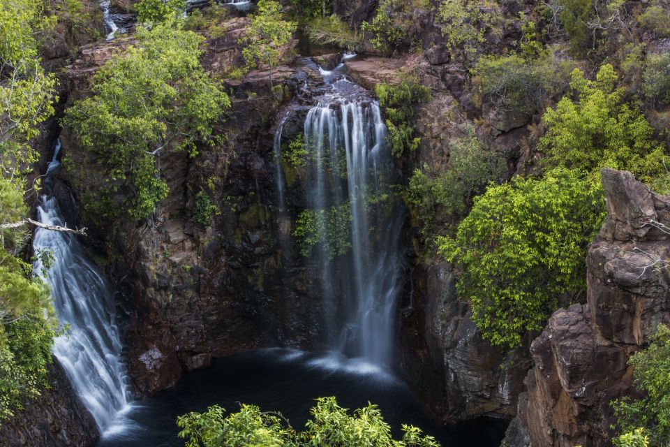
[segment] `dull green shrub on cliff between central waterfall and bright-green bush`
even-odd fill
[[[468,136],[450,146],[447,170],[431,173],[429,166],[424,166],[424,170],[414,171],[405,198],[424,223],[424,230],[429,230],[437,213],[459,219],[472,198],[501,177],[504,161],[499,154],[486,151],[469,129]]]

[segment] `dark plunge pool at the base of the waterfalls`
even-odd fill
[[[237,411],[239,403],[279,411],[299,430],[314,399],[331,395],[351,410],[368,402],[378,404],[396,437],[401,424],[408,423],[445,447],[494,447],[505,431],[503,421],[490,419],[440,427],[422,413],[401,381],[364,360],[263,349],[218,358],[211,367],[186,374],[174,388],[136,402],[125,416],[126,429],[103,437],[98,447],[184,446],[177,437],[177,416],[206,411],[214,404],[230,412]]]

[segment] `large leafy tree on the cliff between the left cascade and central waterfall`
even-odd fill
[[[110,203],[120,192],[124,212],[144,219],[168,195],[156,157],[167,151],[195,156],[197,142],[214,145],[213,125],[230,100],[200,65],[203,38],[181,22],[140,27],[136,37],[137,46],[96,73],[94,96],[68,109],[64,124],[105,168],[107,185],[96,191],[97,200]]]

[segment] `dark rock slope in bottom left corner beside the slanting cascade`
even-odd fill
[[[0,447],[89,447],[98,437],[98,425],[70,385],[54,358],[49,367],[50,388],[25,403],[0,425]]]

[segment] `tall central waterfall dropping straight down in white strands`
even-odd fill
[[[346,78],[332,82],[332,94],[309,110],[304,123],[308,203],[317,220],[337,215],[348,226],[346,254],[333,259],[319,247],[317,255],[326,307],[339,308],[344,321],[330,330],[334,347],[378,365],[392,364],[402,225],[389,194],[393,162],[386,135],[378,103]]]

